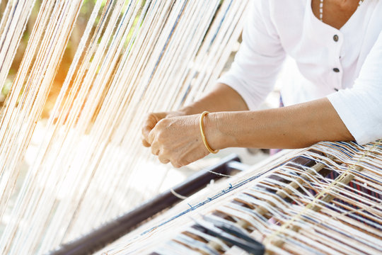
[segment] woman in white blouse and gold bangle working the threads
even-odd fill
[[[254,0],[230,71],[192,105],[149,114],[142,142],[180,167],[226,147],[381,138],[381,30],[378,0]],[[256,111],[286,55],[298,71],[283,85],[286,107]]]

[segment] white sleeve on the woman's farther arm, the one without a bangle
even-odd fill
[[[255,110],[272,91],[284,59],[268,1],[251,1],[240,50],[218,82],[235,89],[248,108]]]

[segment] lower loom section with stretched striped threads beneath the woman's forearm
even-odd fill
[[[381,254],[381,145],[320,142],[284,153],[195,194],[104,254]]]

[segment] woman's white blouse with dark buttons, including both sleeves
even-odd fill
[[[284,105],[327,96],[357,142],[372,142],[382,138],[381,30],[379,0],[364,0],[340,30],[314,16],[311,0],[253,0],[241,48],[218,82],[255,110],[289,55]]]

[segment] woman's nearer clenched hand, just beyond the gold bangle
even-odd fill
[[[200,115],[163,118],[151,130],[148,142],[151,152],[163,164],[185,166],[209,154],[199,130]]]

